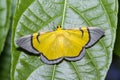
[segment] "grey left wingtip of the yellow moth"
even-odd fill
[[[27,35],[27,36],[21,37],[20,39],[18,39],[16,41],[16,44],[19,47],[21,47],[31,53],[39,54],[39,52],[37,50],[35,50],[32,46],[32,35]]]

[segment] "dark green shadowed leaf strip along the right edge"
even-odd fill
[[[120,1],[118,1],[120,4]],[[120,11],[120,8],[119,8]],[[114,46],[114,53],[120,57],[120,12],[118,13],[118,28],[117,28],[117,34],[116,34],[116,41]]]

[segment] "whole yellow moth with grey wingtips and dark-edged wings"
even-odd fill
[[[55,31],[21,37],[17,45],[33,54],[40,54],[46,64],[56,64],[63,59],[80,60],[85,55],[85,48],[91,47],[103,35],[104,31],[98,27],[62,29],[57,26]]]

